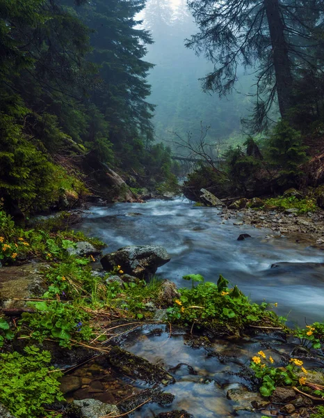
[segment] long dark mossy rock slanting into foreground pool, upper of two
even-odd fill
[[[113,347],[107,357],[115,369],[122,371],[131,378],[149,383],[162,383],[163,385],[175,382],[175,379],[162,367],[128,353],[118,346]]]

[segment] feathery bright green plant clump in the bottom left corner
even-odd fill
[[[63,374],[50,366],[49,351],[34,346],[24,351],[0,355],[0,402],[17,418],[53,417],[45,405],[63,401],[58,382]]]

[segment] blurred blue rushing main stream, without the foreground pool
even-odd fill
[[[181,279],[184,274],[200,273],[217,281],[222,273],[255,302],[278,302],[278,314],[289,314],[293,322],[323,320],[324,268],[298,265],[322,263],[323,251],[285,238],[266,238],[272,231],[233,223],[234,219],[223,221],[216,208],[176,199],[91,208],[81,229],[104,240],[106,251],[163,245],[172,259],[158,270],[159,275],[178,286],[188,286]],[[252,239],[237,241],[241,233]],[[270,268],[278,262],[297,264]]]

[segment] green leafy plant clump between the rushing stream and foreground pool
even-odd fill
[[[213,320],[233,330],[241,330],[256,322],[282,325],[284,318],[268,311],[266,302],[252,303],[237,286],[229,288],[229,281],[222,275],[217,284],[204,282],[200,274],[189,274],[184,279],[192,281],[192,288],[180,289],[181,297],[168,309],[170,320],[185,325],[194,322],[198,326]]]

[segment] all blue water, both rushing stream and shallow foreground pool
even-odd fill
[[[81,229],[106,242],[109,252],[126,245],[162,245],[171,261],[158,270],[159,276],[178,286],[188,286],[181,279],[184,274],[200,273],[208,281],[217,281],[221,273],[253,301],[277,302],[277,313],[289,314],[291,325],[323,320],[324,268],[309,264],[323,263],[323,252],[286,238],[275,238],[270,230],[234,225],[237,222],[223,220],[216,208],[195,207],[186,199],[175,199],[93,207]],[[252,238],[238,241],[241,233]],[[271,268],[280,262],[286,264]],[[289,344],[273,344],[277,344],[278,350],[291,350]],[[177,380],[166,389],[176,396],[172,407],[145,405],[135,412],[135,417],[152,418],[159,412],[176,409],[187,410],[195,418],[250,416],[248,412],[234,412],[226,392],[229,385],[242,382],[235,375],[240,366],[248,365],[261,348],[266,350],[264,341],[213,341],[214,350],[231,357],[224,364],[209,356],[204,348],[194,350],[188,346],[183,335],[170,338],[164,330],[156,335],[149,327],[132,334],[125,348],[161,364]],[[276,357],[274,352],[271,355]],[[177,368],[179,364],[184,365]],[[128,383],[124,380],[123,385]],[[260,412],[252,416],[261,415]]]

